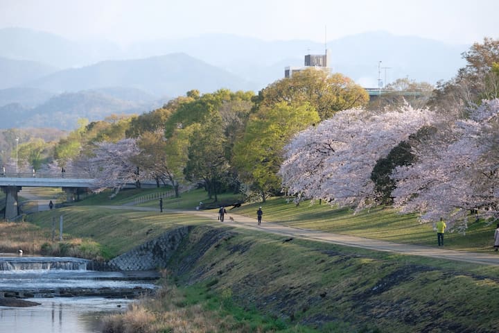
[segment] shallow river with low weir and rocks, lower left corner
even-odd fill
[[[137,295],[156,288],[152,272],[87,266],[87,260],[71,257],[0,257],[0,296],[41,303],[0,306],[0,332],[100,332],[100,318],[125,311]]]

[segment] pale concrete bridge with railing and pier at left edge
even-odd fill
[[[0,177],[0,188],[6,194],[6,209],[3,218],[10,220],[19,215],[17,194],[22,187],[61,187],[66,193],[67,202],[71,203],[78,195],[78,189],[95,187],[94,183],[94,179],[78,178],[76,175],[72,175],[71,178],[52,175],[35,175],[33,177],[33,175],[20,173],[5,175]]]

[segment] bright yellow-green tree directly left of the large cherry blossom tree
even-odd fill
[[[261,106],[252,114],[244,136],[234,146],[233,163],[240,178],[261,200],[281,191],[277,171],[283,162],[283,147],[293,135],[320,120],[310,103],[290,105],[286,102],[272,108]]]

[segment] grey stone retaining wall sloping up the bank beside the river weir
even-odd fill
[[[141,244],[108,262],[121,271],[150,271],[165,267],[192,227],[165,232],[160,237]]]

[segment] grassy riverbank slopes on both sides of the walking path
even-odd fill
[[[94,201],[86,203],[124,204],[130,196],[143,194],[123,191],[112,200],[91,196]],[[193,191],[181,199],[164,200],[164,208],[193,209],[199,201],[208,202],[204,192]],[[94,241],[104,257],[178,225],[196,226],[164,271],[164,289],[127,315],[110,319],[107,332],[125,332],[123,327],[134,332],[137,325],[141,332],[499,330],[499,313],[493,306],[499,298],[499,268],[493,266],[285,241],[191,214],[112,210],[86,203],[40,212],[28,220],[39,230],[50,230],[53,216],[62,215],[64,237]],[[142,206],[157,208],[157,200]],[[258,206],[243,205],[229,210],[229,215],[255,216]],[[352,215],[318,203],[296,207],[283,198],[262,206],[264,223],[435,246],[430,225],[393,210]],[[470,227],[466,236],[447,234],[446,247],[490,251],[491,226],[479,222]]]

